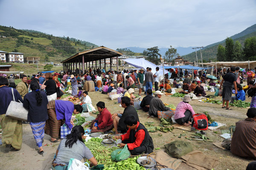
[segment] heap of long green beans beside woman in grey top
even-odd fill
[[[105,147],[97,141],[84,142],[85,146],[90,149],[98,164],[104,164],[104,167],[112,166],[114,163],[111,160],[111,153],[117,149],[117,147]],[[87,161],[90,162],[90,161]]]

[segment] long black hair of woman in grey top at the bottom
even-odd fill
[[[84,135],[84,127],[81,125],[76,125],[72,128],[71,133],[66,136],[65,147],[72,148],[73,144],[78,140],[83,142],[82,135]]]

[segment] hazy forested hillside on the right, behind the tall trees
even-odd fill
[[[239,34],[235,34],[235,35],[231,36],[230,38],[233,39],[234,42],[239,41],[241,43],[241,45],[244,47],[244,40],[249,37],[256,37],[256,24],[253,26],[250,26],[249,28],[245,29],[244,31],[240,32]],[[208,61],[208,60],[215,61],[219,44],[225,46],[225,40],[223,40],[221,42],[213,43],[211,45],[207,45],[206,47],[202,48],[201,51],[202,51],[203,59],[205,59],[206,61]],[[200,54],[200,51],[198,51],[198,49],[197,49],[197,55],[198,55],[198,59],[200,58],[200,60],[201,60],[201,54]],[[194,62],[196,60],[195,52],[184,55],[182,57],[185,57],[186,60],[189,60],[192,62]]]

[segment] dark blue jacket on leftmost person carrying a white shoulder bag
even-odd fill
[[[13,101],[12,88],[9,88],[6,85],[2,86],[0,87],[0,94],[0,114],[5,114],[10,102]],[[18,102],[18,100],[23,102],[23,99],[15,88],[13,89],[13,94],[16,102]]]

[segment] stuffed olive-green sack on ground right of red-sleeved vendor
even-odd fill
[[[184,141],[174,141],[169,144],[165,144],[166,153],[173,158],[180,158],[193,151],[192,144]]]

